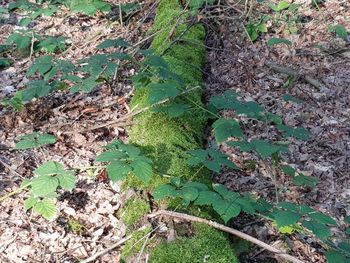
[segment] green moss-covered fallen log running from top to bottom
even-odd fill
[[[162,54],[170,69],[180,75],[187,87],[202,85],[201,68],[205,62],[203,45],[205,29],[201,24],[188,24],[189,15],[185,14],[178,0],[162,0],[157,8],[153,30],[162,29],[153,40],[151,48]],[[181,41],[174,39],[181,35]],[[211,184],[209,171],[190,167],[186,164],[187,151],[203,147],[204,131],[207,122],[206,113],[200,109],[202,89],[177,98],[179,102],[191,101],[196,105],[185,115],[169,118],[165,113],[144,112],[134,118],[134,125],[129,132],[129,142],[141,147],[153,160],[155,174],[151,182],[145,184],[135,177],[129,177],[124,188],[152,191],[159,184],[167,182],[163,175],[177,176],[184,180],[193,180]],[[133,107],[148,105],[147,88],[137,89],[131,101]],[[199,107],[198,107],[199,106]],[[177,206],[166,204],[169,208]],[[207,217],[211,211],[192,208],[189,213]],[[194,224],[194,235],[179,237],[173,242],[152,242],[147,251],[150,262],[236,262],[234,250],[228,236],[207,225]],[[126,247],[131,247],[131,241]],[[135,242],[135,240],[134,240]],[[137,249],[123,254],[124,260],[137,254]]]

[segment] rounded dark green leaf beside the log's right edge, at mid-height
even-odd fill
[[[243,137],[243,131],[236,120],[218,119],[213,123],[215,139],[224,142],[229,137]]]

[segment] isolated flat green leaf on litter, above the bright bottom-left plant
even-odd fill
[[[39,148],[41,146],[53,144],[55,142],[56,137],[53,135],[33,132],[31,134],[21,136],[20,141],[16,143],[15,149],[25,150],[31,148]]]

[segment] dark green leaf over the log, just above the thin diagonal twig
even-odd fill
[[[178,84],[175,82],[152,83],[148,85],[148,87],[150,89],[148,95],[148,101],[150,104],[158,103],[169,98],[175,98],[180,94]]]

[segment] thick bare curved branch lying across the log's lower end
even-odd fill
[[[197,222],[197,223],[204,223],[204,224],[207,224],[211,227],[214,227],[218,230],[221,230],[221,231],[224,231],[226,233],[230,233],[232,235],[235,235],[237,237],[240,237],[244,240],[247,240],[249,242],[252,242],[270,252],[273,252],[275,254],[278,254],[278,256],[286,259],[286,260],[289,260],[290,262],[293,262],[293,263],[304,263],[303,261],[287,254],[287,253],[284,253],[283,251],[273,247],[273,246],[270,246],[269,244],[266,244],[265,242],[263,241],[260,241],[259,239],[256,239],[255,237],[252,237],[250,235],[247,235],[241,231],[238,231],[236,229],[233,229],[233,228],[230,228],[230,227],[227,227],[227,226],[224,226],[222,224],[219,224],[219,223],[216,223],[214,221],[210,221],[210,220],[207,220],[207,219],[204,219],[204,218],[200,218],[200,217],[196,217],[196,216],[191,216],[191,215],[187,215],[187,214],[183,214],[183,213],[177,213],[177,212],[173,212],[173,211],[167,211],[167,210],[159,210],[153,214],[149,214],[148,217],[150,218],[153,218],[153,217],[159,217],[159,216],[170,216],[170,217],[175,217],[175,218],[179,218],[179,219],[183,219],[183,220],[186,220],[186,221],[191,221],[191,222]]]

